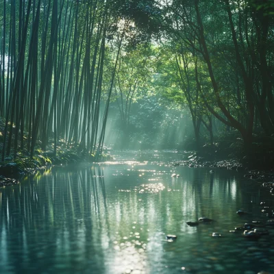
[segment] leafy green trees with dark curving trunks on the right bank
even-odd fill
[[[236,129],[247,149],[253,133],[273,136],[273,1],[159,3],[168,40],[163,82],[177,88],[166,93],[188,105],[197,142],[201,125],[213,142],[212,118]]]

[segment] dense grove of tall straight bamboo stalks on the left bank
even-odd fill
[[[115,20],[110,1],[1,2],[3,159],[24,147],[32,157],[38,140],[101,153],[123,41],[123,26],[108,39]]]

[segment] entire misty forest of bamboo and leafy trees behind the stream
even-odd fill
[[[273,14],[271,0],[1,1],[2,160],[61,141],[97,156],[273,142]]]

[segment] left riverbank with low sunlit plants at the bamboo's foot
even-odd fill
[[[2,158],[4,131],[5,119],[0,117],[0,159]],[[13,135],[12,144],[14,138],[15,136]],[[25,134],[24,140],[27,140]],[[12,147],[9,155],[5,155],[4,160],[0,162],[0,187],[18,184],[24,174],[33,173],[39,169],[45,169],[50,166],[111,159],[107,149],[105,149],[100,158],[97,159],[95,155],[88,153],[85,149],[79,149],[79,145],[68,145],[64,140],[58,140],[55,153],[53,140],[47,145],[47,151],[41,149],[41,142],[38,140],[34,156],[30,158],[26,143],[27,141],[24,144],[24,148],[16,153],[16,157],[14,157],[14,149]]]

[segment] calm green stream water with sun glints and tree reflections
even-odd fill
[[[0,273],[274,272],[274,229],[256,241],[229,233],[266,219],[258,204],[269,193],[236,171],[169,165],[182,158],[123,153],[1,189]],[[201,216],[216,221],[186,225]]]

